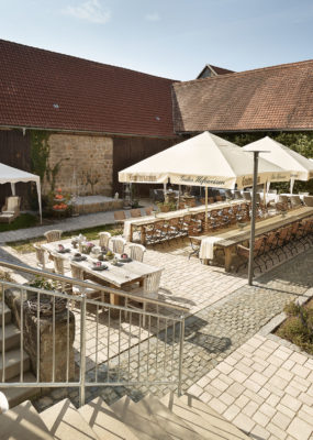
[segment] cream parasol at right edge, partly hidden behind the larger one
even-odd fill
[[[245,146],[247,151],[260,151],[260,157],[266,158],[283,169],[291,172],[290,193],[294,180],[310,180],[313,178],[313,162],[288,146],[266,136]],[[262,153],[267,152],[267,153]]]

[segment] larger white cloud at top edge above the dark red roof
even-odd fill
[[[87,0],[78,7],[67,7],[62,11],[66,15],[71,15],[79,20],[86,20],[91,23],[108,23],[111,19],[111,12],[104,10],[99,0]]]

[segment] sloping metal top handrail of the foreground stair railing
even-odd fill
[[[131,294],[131,293],[122,290],[122,289],[115,289],[113,287],[102,286],[101,284],[97,284],[97,283],[90,283],[90,282],[87,283],[87,282],[83,282],[81,279],[70,278],[68,276],[55,274],[53,272],[37,270],[37,268],[34,268],[34,267],[29,266],[26,264],[14,264],[14,263],[7,262],[5,260],[0,260],[0,266],[7,267],[7,268],[11,268],[11,270],[14,270],[14,271],[25,272],[25,273],[32,274],[32,275],[44,276],[46,278],[55,279],[55,280],[58,280],[60,283],[68,283],[68,284],[80,286],[80,287],[85,287],[85,288],[94,288],[94,289],[100,290],[100,292],[105,292],[105,293],[113,294],[113,295],[120,295],[120,296],[123,296],[125,298],[132,298],[132,299],[135,299],[135,300],[138,300],[138,301],[143,300],[142,296],[134,295],[134,294]],[[154,304],[156,306],[163,306],[163,307],[167,307],[169,309],[179,310],[179,311],[186,312],[186,314],[188,314],[190,311],[186,307],[178,306],[178,305],[176,306],[176,305],[170,304],[170,302],[159,301],[158,299],[145,298],[145,301],[147,301],[149,304]]]

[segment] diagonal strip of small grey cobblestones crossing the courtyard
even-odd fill
[[[313,285],[311,271],[308,273],[312,264],[313,250],[309,250],[305,254],[299,255],[275,268],[272,273],[261,276],[256,286],[242,286],[214,305],[208,306],[194,316],[187,318],[182,391],[191,389],[198,393],[204,402],[206,396],[208,398],[211,396],[210,392],[216,394],[213,387],[210,387],[205,375],[253,338],[264,324],[283,309],[287,302],[305,294]],[[150,338],[149,342],[142,343],[141,355],[138,355],[138,348],[134,346],[124,352],[120,360],[118,356],[111,360],[109,378],[116,378],[116,365],[119,362],[121,365],[120,377],[122,378],[130,377],[133,381],[138,377],[147,378],[147,362],[152,363],[150,378],[155,380],[160,376],[170,378],[172,372],[167,356],[174,351],[177,360],[178,343],[177,338],[175,338],[175,343],[172,344],[169,334],[169,343],[166,351],[164,339],[165,332],[160,333],[158,338]],[[148,356],[148,352],[155,354]],[[130,376],[127,370],[128,360],[131,365]],[[156,362],[157,367],[154,362]],[[101,380],[108,378],[105,363],[101,366],[99,375]],[[94,372],[91,370],[88,373],[88,378],[92,381],[93,377]],[[221,380],[223,380],[221,381],[224,384],[223,386],[227,387],[234,382],[234,380],[227,377],[225,372]],[[194,387],[195,383],[201,388],[201,392]],[[149,391],[156,395],[163,395],[171,388],[172,386],[155,386]],[[137,388],[132,387],[132,389],[126,389],[122,386],[103,388],[94,386],[88,388],[87,398],[92,399],[101,395],[111,404],[124,394],[131,395],[134,399],[139,399],[146,392],[146,385]],[[77,391],[70,389],[68,393],[72,402],[78,404]],[[52,405],[55,400],[63,398],[65,394],[66,391],[55,391],[51,396],[38,399],[35,405],[38,410],[42,410],[47,405]],[[213,396],[215,395],[213,394]]]

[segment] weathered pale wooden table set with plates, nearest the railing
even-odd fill
[[[65,249],[69,249],[70,252],[59,253],[58,252],[58,244],[63,244]],[[74,249],[71,245],[71,240],[63,240],[59,242],[52,242],[42,244],[42,248],[47,251],[49,254],[55,253],[59,255],[65,261],[70,261],[77,252],[77,249]],[[126,285],[134,284],[134,283],[143,283],[144,278],[154,273],[159,271],[159,267],[150,266],[146,263],[141,263],[137,261],[132,261],[130,263],[121,263],[120,266],[114,266],[110,263],[110,261],[103,262],[108,266],[104,271],[94,271],[92,268],[92,263],[98,262],[96,255],[89,254],[87,255],[87,260],[82,262],[75,262],[75,264],[79,265],[83,268],[85,272],[92,274],[93,277],[97,277],[99,280],[104,280],[105,283],[110,284],[112,287],[123,288]],[[111,304],[118,305],[119,296],[112,295],[110,300]]]

